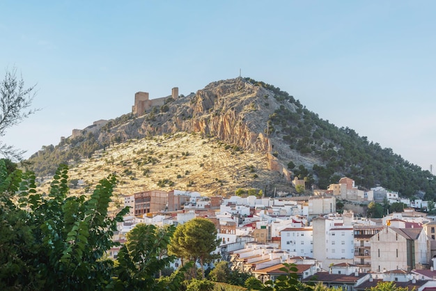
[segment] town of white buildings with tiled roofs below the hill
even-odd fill
[[[301,183],[293,181],[294,186]],[[353,210],[336,211],[336,200],[357,205],[387,200],[406,207],[371,219]],[[380,281],[419,291],[436,288],[436,217],[417,211],[427,209],[428,202],[400,198],[382,187],[364,192],[350,178],[305,197],[223,198],[149,190],[126,196],[125,206],[130,213],[118,223],[116,242],[123,244],[138,223],[177,226],[203,217],[217,228],[220,260],[264,283],[283,274],[283,263],[292,263],[299,280],[343,290],[366,290]],[[112,248],[110,257],[116,258],[119,249]],[[171,267],[179,265],[176,261]]]

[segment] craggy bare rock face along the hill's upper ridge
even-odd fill
[[[281,173],[286,180],[290,180],[291,173],[284,164],[295,157],[302,159],[267,129],[269,116],[276,109],[285,106],[295,111],[295,104],[277,101],[274,93],[246,79],[215,81],[195,94],[179,97],[167,105],[169,110],[150,110],[110,132],[100,133],[100,139],[120,136],[127,140],[177,132],[215,136],[243,150],[263,152],[270,170]],[[299,162],[304,164],[305,161]],[[306,162],[313,164],[313,161]]]

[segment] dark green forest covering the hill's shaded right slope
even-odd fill
[[[379,143],[368,141],[348,127],[338,128],[328,120],[322,120],[318,114],[302,106],[293,96],[270,84],[247,78],[252,84],[263,86],[272,91],[279,101],[291,102],[294,110],[281,105],[269,118],[275,134],[286,141],[290,149],[302,155],[313,155],[322,160],[314,165],[308,175],[316,178],[321,189],[338,182],[338,176],[347,176],[357,185],[367,189],[380,184],[386,189],[398,191],[403,196],[413,196],[417,191],[433,198],[436,193],[436,181],[429,171],[410,164],[391,148],[382,148]],[[294,163],[289,163],[292,169]]]

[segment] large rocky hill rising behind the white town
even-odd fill
[[[181,136],[184,136],[183,141],[179,140]],[[174,139],[174,144],[170,143],[171,139]],[[137,146],[136,155],[137,151],[141,154],[136,157],[133,154],[130,157],[114,154],[108,158],[109,154],[104,153],[116,152],[120,148],[127,150],[141,141],[154,143]],[[164,142],[166,150],[162,152]],[[116,144],[118,147],[114,148]],[[183,152],[189,155],[182,155]],[[224,153],[229,153],[229,157]],[[171,163],[176,164],[172,162],[176,155],[185,157],[185,162],[188,162],[182,168],[192,168],[185,173],[195,174],[187,178],[189,175],[182,175],[183,171],[171,168]],[[338,128],[322,120],[279,88],[249,78],[212,82],[196,93],[180,95],[176,99],[170,97],[162,106],[152,107],[143,114],[127,113],[110,120],[94,132],[84,129],[80,136],[65,139],[57,146],[45,147],[32,155],[28,162],[38,175],[47,175],[53,173],[61,162],[80,168],[82,163],[91,163],[95,159],[106,159],[109,164],[111,161],[113,164],[125,161],[131,171],[134,163],[141,164],[138,171],[145,171],[144,167],[148,165],[148,176],[146,173],[140,178],[136,173],[132,178],[143,186],[132,186],[130,192],[141,187],[170,187],[162,182],[157,185],[159,180],[165,179],[174,183],[173,188],[183,189],[191,184],[196,185],[196,191],[204,193],[231,194],[238,187],[263,191],[266,187],[267,192],[273,188],[293,191],[290,179],[295,176],[305,178],[309,187],[313,184],[313,187],[322,189],[348,176],[361,187],[379,184],[391,191],[399,191],[403,196],[425,193],[426,198],[433,198],[436,192],[436,181],[430,172],[410,164],[391,149],[381,148],[378,143],[359,136],[353,129]],[[223,164],[215,169],[214,161]],[[103,166],[101,161],[100,164],[100,169],[92,168],[92,172],[91,168],[81,171],[81,178],[90,180],[86,177],[97,177],[101,171],[124,173],[127,169],[113,170]],[[155,169],[157,164],[167,166],[168,170]],[[198,167],[199,164],[203,166]],[[255,171],[249,172],[253,177],[242,168]],[[160,174],[153,176],[152,172]],[[257,178],[254,178],[254,173]],[[186,179],[173,178],[173,175]]]

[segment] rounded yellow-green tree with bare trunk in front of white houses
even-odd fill
[[[217,238],[217,228],[212,221],[203,218],[191,219],[177,226],[171,238],[169,253],[178,258],[199,262],[204,278],[204,264],[214,258],[212,251],[217,249],[220,242]]]

